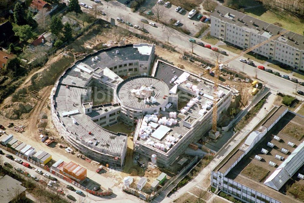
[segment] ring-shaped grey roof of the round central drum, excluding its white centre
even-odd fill
[[[143,85],[152,87],[153,93],[151,96],[154,96],[156,99],[155,103],[150,102],[146,104],[144,99],[139,99],[131,93],[133,89],[140,89]],[[117,87],[116,94],[120,100],[119,103],[122,105],[128,108],[142,110],[157,107],[167,102],[167,99],[163,97],[165,95],[169,96],[169,87],[163,81],[152,76],[135,76],[120,83]]]

